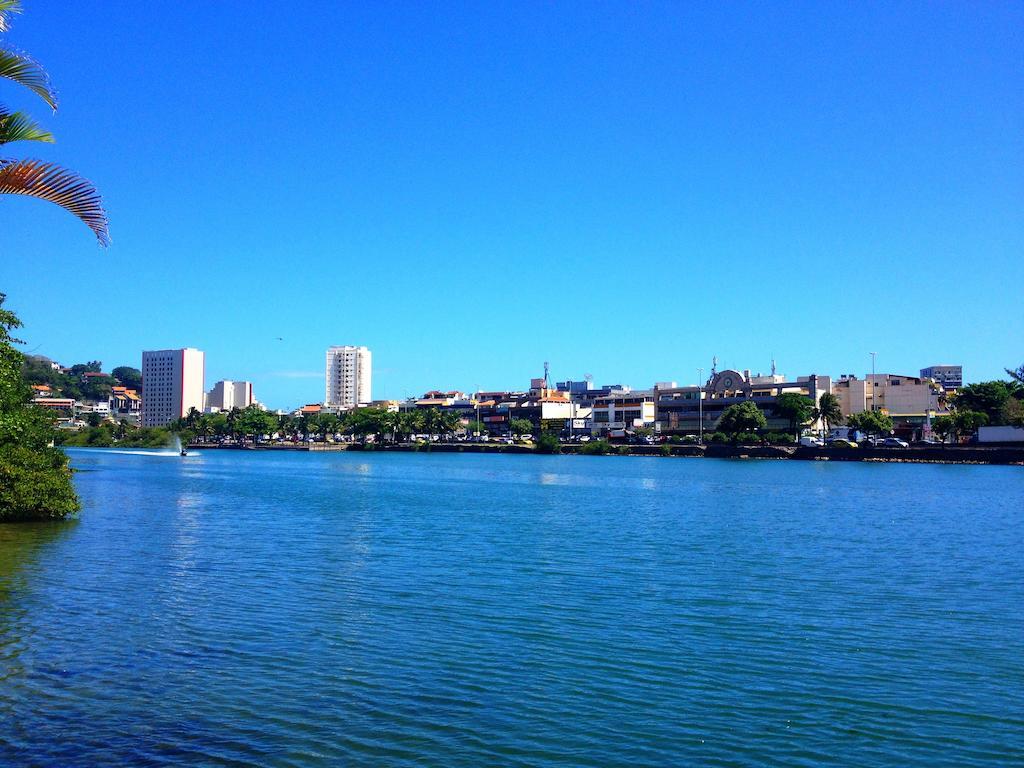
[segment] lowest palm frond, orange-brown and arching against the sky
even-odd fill
[[[27,195],[73,213],[92,229],[99,245],[111,242],[106,212],[91,182],[54,163],[39,160],[0,161],[0,195]]]

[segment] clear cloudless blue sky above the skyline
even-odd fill
[[[29,349],[324,396],[1024,362],[1021,3],[26,0],[114,243],[0,199]],[[283,341],[276,341],[282,337]]]

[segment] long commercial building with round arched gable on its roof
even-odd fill
[[[750,371],[713,371],[703,386],[655,387],[655,419],[662,432],[697,434],[702,417],[703,431],[714,432],[729,406],[753,402],[767,419],[769,430],[784,432],[788,431],[790,422],[775,413],[780,394],[796,392],[817,406],[821,395],[830,391],[831,379],[827,376],[811,374],[786,381],[778,374],[755,376]],[[810,426],[816,428],[817,424]]]

